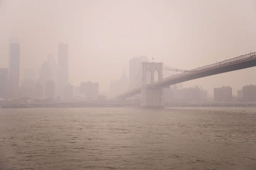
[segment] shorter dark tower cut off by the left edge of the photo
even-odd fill
[[[0,68],[0,98],[7,97],[8,69]]]

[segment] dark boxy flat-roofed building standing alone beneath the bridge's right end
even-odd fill
[[[213,89],[214,102],[232,102],[232,88],[229,86],[222,86]]]

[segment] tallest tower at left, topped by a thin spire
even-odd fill
[[[19,94],[19,60],[20,45],[16,41],[10,43],[10,60],[9,60],[9,84],[8,92],[10,98],[17,98]]]

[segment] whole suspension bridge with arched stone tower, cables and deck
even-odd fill
[[[256,52],[240,55],[192,70],[177,69],[164,65],[163,63],[155,62],[143,62],[141,65],[142,67],[137,77],[140,85],[118,95],[115,99],[124,100],[141,93],[141,107],[162,107],[164,87],[197,78],[254,67],[256,66]],[[180,73],[163,78],[163,69],[179,71]]]

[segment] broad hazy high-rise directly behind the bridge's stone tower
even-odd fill
[[[141,86],[141,63],[149,62],[146,56],[134,57],[129,61],[129,86],[135,88]]]

